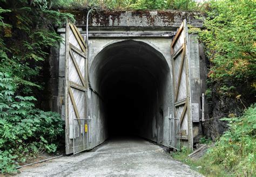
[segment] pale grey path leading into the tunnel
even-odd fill
[[[113,139],[95,152],[20,169],[19,176],[200,176],[143,139]]]

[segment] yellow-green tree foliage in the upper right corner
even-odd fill
[[[221,96],[235,93],[236,88],[255,93],[255,1],[212,1],[200,39],[211,61],[208,77],[218,83]]]

